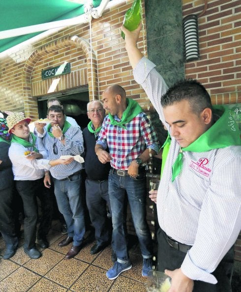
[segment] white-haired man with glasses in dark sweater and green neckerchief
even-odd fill
[[[103,250],[111,240],[111,226],[106,209],[108,205],[111,212],[108,194],[108,175],[111,166],[110,163],[102,164],[94,151],[105,116],[103,104],[98,100],[90,101],[87,105],[87,115],[90,123],[83,130],[87,174],[85,184],[86,202],[95,229],[96,244],[90,249],[90,254],[94,255]]]

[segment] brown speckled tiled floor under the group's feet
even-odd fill
[[[111,281],[105,275],[112,266],[110,246],[92,256],[93,242],[88,243],[87,237],[80,253],[65,260],[71,244],[59,247],[58,242],[64,237],[59,222],[54,221],[48,234],[50,246],[42,250],[42,257],[37,260],[30,260],[24,253],[23,239],[16,254],[3,260],[5,245],[0,237],[0,292],[146,292],[142,257],[136,244],[130,249],[132,268]]]

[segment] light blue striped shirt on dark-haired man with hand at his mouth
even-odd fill
[[[82,131],[77,127],[71,126],[64,134],[64,145],[59,139],[51,137],[48,133],[43,137],[43,144],[48,151],[48,159],[59,159],[61,155],[79,155],[84,151],[84,142]],[[54,154],[54,150],[57,154]],[[63,179],[69,175],[83,169],[82,164],[74,161],[67,165],[57,165],[50,169],[50,173],[54,178]]]

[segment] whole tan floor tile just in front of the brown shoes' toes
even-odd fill
[[[88,263],[76,259],[64,259],[49,271],[45,277],[69,288],[88,266]]]

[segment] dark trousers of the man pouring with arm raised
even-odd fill
[[[175,270],[181,267],[186,253],[181,252],[169,245],[165,233],[159,229],[158,241],[158,267],[157,270],[164,272],[165,269]],[[205,255],[204,255],[205,257]],[[203,281],[194,281],[193,292],[232,292],[231,279],[234,265],[234,246],[224,256],[212,275],[217,279],[213,285]]]

